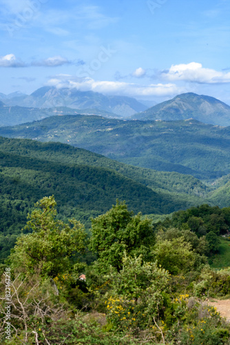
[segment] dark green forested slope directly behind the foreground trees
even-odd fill
[[[125,199],[134,212],[167,214],[202,204],[210,188],[191,176],[127,166],[60,143],[0,138],[1,257],[34,202],[54,195],[60,217],[90,217]],[[6,241],[7,239],[7,241]]]

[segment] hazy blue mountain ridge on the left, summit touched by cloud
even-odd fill
[[[11,95],[0,94],[0,100],[7,106],[28,108],[54,108],[65,106],[85,109],[96,108],[109,113],[129,117],[136,112],[147,109],[147,106],[136,99],[125,96],[105,96],[99,92],[79,91],[75,88],[54,88],[44,86],[32,92],[31,95],[16,92]]]

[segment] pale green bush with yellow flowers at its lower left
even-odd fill
[[[169,274],[155,262],[143,262],[139,257],[123,257],[123,268],[109,279],[112,290],[107,293],[107,311],[116,326],[145,328],[154,324],[169,292]]]

